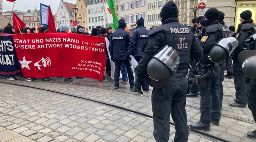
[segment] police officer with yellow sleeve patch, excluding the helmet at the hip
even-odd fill
[[[225,26],[219,23],[219,11],[216,8],[208,9],[205,14],[206,29],[204,36],[201,39],[204,54],[207,54],[212,44],[226,37]],[[203,55],[204,56],[204,55]],[[210,130],[210,123],[219,125],[220,121],[220,97],[218,93],[220,64],[205,64],[201,65],[200,74],[205,79],[205,84],[200,83],[200,121],[190,123],[192,129]],[[209,76],[207,78],[207,75]],[[204,78],[205,77],[205,78]],[[202,79],[202,80],[203,80]]]

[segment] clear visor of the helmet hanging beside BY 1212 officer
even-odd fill
[[[174,73],[180,64],[180,57],[171,46],[165,46],[159,49],[154,57],[164,63]]]

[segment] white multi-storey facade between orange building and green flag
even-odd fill
[[[103,4],[106,0],[87,0],[87,17],[88,17],[88,29],[91,32],[92,28],[97,26],[106,27],[105,13],[103,10]],[[101,23],[101,20],[103,22]]]

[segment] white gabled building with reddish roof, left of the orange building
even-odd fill
[[[73,23],[71,21],[74,20],[74,12],[73,7],[75,7],[75,4],[64,2],[63,0],[60,0],[60,5],[56,13],[56,28],[60,28],[62,24],[67,25],[69,27],[69,30],[73,28]]]

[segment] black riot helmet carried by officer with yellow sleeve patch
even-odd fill
[[[213,43],[208,54],[200,57],[202,64],[219,63],[227,59],[238,46],[238,41],[234,37],[223,38]]]

